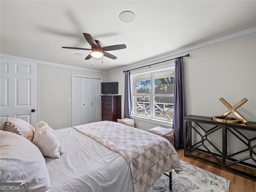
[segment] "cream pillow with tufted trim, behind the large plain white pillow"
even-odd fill
[[[34,136],[34,128],[28,122],[20,118],[8,117],[4,125],[4,131],[16,133],[24,136],[32,142]]]

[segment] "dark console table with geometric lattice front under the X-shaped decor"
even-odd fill
[[[230,124],[213,121],[210,117],[188,115],[184,117],[184,125],[184,156],[197,158],[256,179],[256,122]],[[217,138],[221,142],[218,143],[218,146],[216,146],[216,143],[214,144],[211,138],[211,134],[216,133],[217,130],[221,133]],[[246,136],[243,130],[250,131],[250,136]],[[230,149],[233,151],[235,149],[227,142],[228,134],[232,134],[243,144],[242,150],[232,154],[229,152]],[[192,139],[192,136],[194,136],[194,139]],[[240,154],[243,154],[243,158],[238,157]],[[246,160],[250,161],[246,162]]]

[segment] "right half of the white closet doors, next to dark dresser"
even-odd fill
[[[89,78],[89,123],[100,121],[101,80]]]

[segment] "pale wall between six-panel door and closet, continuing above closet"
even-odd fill
[[[46,64],[37,64],[38,70],[38,121],[47,122],[54,129],[71,126],[71,74],[100,77],[107,74],[76,70]],[[60,124],[56,124],[59,120]]]

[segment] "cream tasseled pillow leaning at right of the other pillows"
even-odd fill
[[[40,149],[43,156],[60,158],[63,148],[57,133],[46,122],[36,124],[33,143]]]

